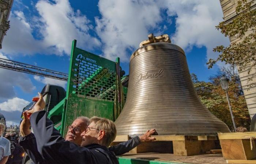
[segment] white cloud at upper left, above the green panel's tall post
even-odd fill
[[[99,46],[98,39],[89,34],[90,21],[80,11],[74,12],[68,0],[55,0],[50,3],[40,0],[36,4],[40,21],[44,23],[41,33],[44,42],[49,46],[56,46],[60,53],[70,54],[72,40],[78,40],[79,45],[86,45],[90,50]]]

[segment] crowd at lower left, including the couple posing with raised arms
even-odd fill
[[[22,147],[30,157],[26,164],[118,164],[116,156],[129,152],[141,141],[155,140],[151,135],[156,131],[151,129],[127,142],[110,146],[116,138],[116,126],[111,120],[95,116],[76,118],[67,126],[67,135],[64,139],[54,128],[53,122],[47,118],[46,111],[43,110],[44,99],[40,93],[38,94],[39,100],[34,108],[23,112],[19,141],[12,141],[11,136],[7,136],[10,140],[0,138],[0,144],[5,143],[3,162],[0,161],[0,164],[8,162],[8,156],[9,159],[13,159],[14,148],[11,142]],[[12,164],[18,163],[12,161]]]

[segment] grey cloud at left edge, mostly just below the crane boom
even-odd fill
[[[0,58],[8,59],[1,53]],[[0,82],[0,99],[15,97],[14,86],[20,87],[26,93],[30,93],[35,89],[35,86],[25,73],[1,68],[0,77],[2,77]]]

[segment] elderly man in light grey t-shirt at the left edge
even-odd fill
[[[0,123],[0,164],[5,164],[11,155],[11,142],[2,136],[5,125]]]

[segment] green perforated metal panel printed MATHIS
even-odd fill
[[[115,84],[116,62],[77,48],[74,40],[62,128],[71,125],[79,116],[114,120]]]

